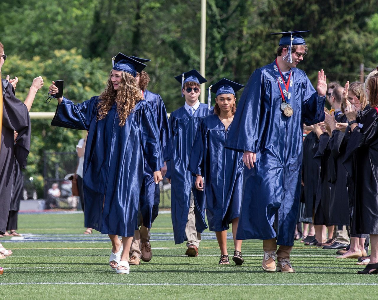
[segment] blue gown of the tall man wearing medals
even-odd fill
[[[256,153],[256,164],[244,168],[244,193],[237,239],[272,239],[291,246],[301,192],[302,134],[305,123],[324,120],[325,97],[318,94],[306,73],[292,68],[294,113],[280,109],[274,63],[249,78],[240,98],[226,147]]]

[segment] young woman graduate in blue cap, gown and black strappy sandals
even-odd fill
[[[188,170],[196,175],[195,187],[206,195],[206,216],[209,230],[215,231],[220,248],[219,264],[229,264],[227,230],[232,223],[233,260],[243,264],[242,240],[236,239],[240,204],[242,203],[243,161],[241,152],[225,148],[236,109],[235,92],[241,84],[223,78],[209,88],[215,93],[214,114],[204,117],[198,125]],[[203,184],[203,178],[206,185]]]

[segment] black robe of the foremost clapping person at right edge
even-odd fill
[[[359,112],[357,121],[344,160],[355,183],[350,233],[378,234],[378,108]]]

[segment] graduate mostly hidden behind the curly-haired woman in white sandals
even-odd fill
[[[131,58],[140,63],[147,63],[151,61],[146,58],[139,58],[131,56]],[[158,130],[160,136],[161,147],[163,150],[164,167],[161,169],[161,175],[165,176],[167,172],[166,162],[172,157],[172,144],[170,142],[170,134],[168,127],[168,116],[163,99],[159,94],[155,94],[147,90],[150,77],[146,71],[138,73],[135,77],[136,83],[141,89],[142,96],[152,107],[158,122]],[[155,184],[153,180],[153,171],[144,161],[144,178],[140,198],[141,221],[140,228],[135,230],[133,244],[130,248],[129,264],[138,265],[140,259],[148,262],[152,258],[152,248],[150,245],[150,228],[152,222],[156,219],[159,213],[160,203],[160,186]]]

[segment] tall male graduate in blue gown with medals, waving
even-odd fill
[[[327,83],[322,70],[315,91],[296,68],[307,51],[299,32],[280,34],[276,60],[255,70],[244,88],[226,147],[243,151],[246,164],[237,238],[264,240],[265,271],[295,272],[289,259],[301,192],[302,124],[324,120]]]

